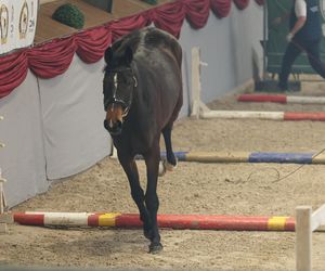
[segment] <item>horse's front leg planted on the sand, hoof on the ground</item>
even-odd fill
[[[158,142],[158,141],[157,141]],[[145,205],[150,214],[152,222],[152,236],[150,253],[157,254],[162,249],[160,243],[160,234],[157,223],[157,211],[159,208],[159,199],[157,195],[157,180],[158,180],[158,168],[160,160],[160,149],[159,143],[154,146],[150,153],[144,155],[146,165],[147,185],[145,192]]]

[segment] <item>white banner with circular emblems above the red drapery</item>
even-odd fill
[[[32,44],[38,0],[0,0],[0,54]]]

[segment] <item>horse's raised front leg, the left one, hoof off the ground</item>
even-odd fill
[[[128,177],[132,198],[135,202],[140,211],[140,219],[143,222],[144,236],[150,240],[152,236],[152,223],[151,218],[148,216],[148,211],[144,205],[144,192],[139,181],[139,171],[136,163],[134,158],[129,155],[118,154],[118,159]]]

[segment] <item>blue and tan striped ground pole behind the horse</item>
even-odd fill
[[[325,154],[317,153],[174,152],[174,155],[180,162],[325,164]],[[166,153],[160,156],[166,158]]]

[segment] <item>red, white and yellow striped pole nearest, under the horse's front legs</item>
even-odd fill
[[[142,228],[135,214],[14,212],[14,221],[40,227]],[[158,215],[159,228],[176,230],[295,231],[292,217]]]

